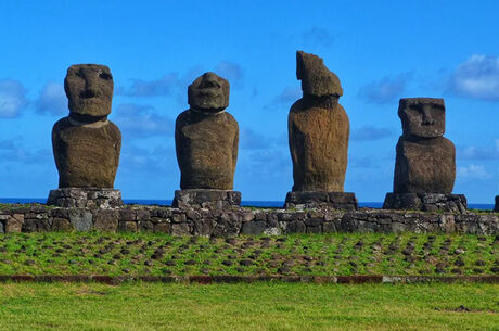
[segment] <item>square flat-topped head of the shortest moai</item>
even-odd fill
[[[402,98],[398,106],[405,136],[436,138],[445,132],[444,99]]]

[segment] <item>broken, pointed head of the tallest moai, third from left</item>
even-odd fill
[[[321,58],[305,53],[296,52],[296,78],[302,80],[302,90],[304,94],[316,97],[343,96],[340,78],[330,72]]]

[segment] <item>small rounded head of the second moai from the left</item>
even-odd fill
[[[205,73],[189,86],[189,105],[206,113],[221,112],[229,106],[229,81],[215,73]]]

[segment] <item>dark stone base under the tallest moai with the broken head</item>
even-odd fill
[[[333,208],[357,209],[357,198],[350,192],[304,191],[287,192],[284,208]]]

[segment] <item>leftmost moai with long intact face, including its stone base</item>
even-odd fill
[[[105,65],[77,64],[67,69],[69,116],[52,129],[59,189],[50,192],[48,204],[101,208],[123,204],[120,191],[113,189],[121,148],[121,133],[107,119],[113,87]]]

